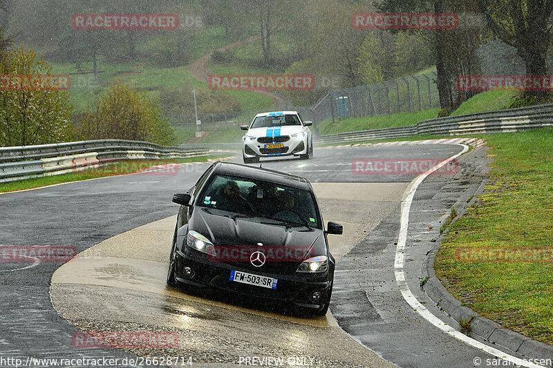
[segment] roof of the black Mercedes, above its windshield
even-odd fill
[[[259,168],[232,162],[217,162],[214,173],[245,177],[247,179],[265,180],[294,188],[312,191],[311,184],[305,177],[281,173],[268,168]]]

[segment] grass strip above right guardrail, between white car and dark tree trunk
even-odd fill
[[[439,108],[421,110],[414,113],[397,113],[393,115],[377,115],[366,117],[350,117],[348,119],[331,119],[321,122],[318,126],[320,135],[355,132],[357,130],[395,128],[417,124],[425,119],[438,117]]]

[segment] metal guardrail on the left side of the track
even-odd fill
[[[167,147],[149,142],[94,141],[0,147],[0,182],[59,175],[109,159],[172,159],[209,154],[205,147]]]

